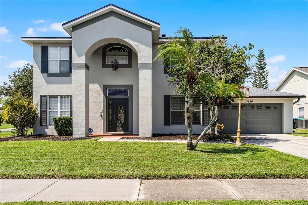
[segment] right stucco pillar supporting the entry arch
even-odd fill
[[[152,63],[138,63],[139,136],[152,136]]]

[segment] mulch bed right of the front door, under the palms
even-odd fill
[[[199,135],[193,135],[193,140],[197,140]],[[137,140],[163,140],[163,141],[185,141],[187,134],[153,134],[152,137],[122,137],[121,139],[137,139]],[[235,138],[230,135],[212,135],[205,134],[201,141],[228,141],[233,142]]]

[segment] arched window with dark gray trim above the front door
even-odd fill
[[[112,67],[111,61],[116,59],[119,62],[119,68],[132,67],[132,49],[120,43],[109,43],[103,47],[102,67]]]

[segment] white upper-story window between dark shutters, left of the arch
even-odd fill
[[[70,47],[48,46],[48,73],[70,72]]]

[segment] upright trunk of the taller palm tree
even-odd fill
[[[188,141],[187,149],[194,150],[193,145],[193,87],[189,87],[188,97],[187,97],[187,107],[185,109],[186,126],[188,128]]]

